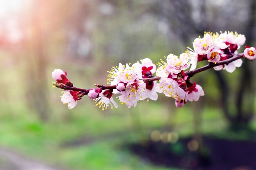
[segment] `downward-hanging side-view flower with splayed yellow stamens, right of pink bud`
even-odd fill
[[[99,94],[99,97],[95,100],[95,103],[97,103],[95,106],[99,106],[99,108],[101,108],[102,110],[107,110],[108,107],[110,106],[111,109],[113,110],[115,106],[115,108],[117,108],[117,103],[114,101],[113,97],[113,90],[104,90]]]

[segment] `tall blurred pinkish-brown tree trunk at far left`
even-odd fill
[[[30,31],[29,36],[29,61],[27,62],[27,102],[29,106],[39,113],[41,120],[48,119],[49,104],[47,102],[47,78],[45,55],[45,38],[47,35],[42,26],[43,0],[36,0],[29,11]],[[32,15],[33,14],[33,15]]]

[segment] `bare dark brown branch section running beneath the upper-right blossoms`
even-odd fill
[[[221,62],[218,62],[216,64],[214,64],[212,62],[209,62],[208,65],[200,67],[200,68],[195,69],[193,71],[186,71],[185,74],[188,75],[189,77],[193,77],[193,75],[195,75],[197,73],[200,73],[202,71],[208,70],[208,69],[216,67],[216,66],[221,66],[221,65],[224,65],[224,64],[228,65],[229,63],[234,62],[235,60],[238,60],[240,58],[243,58],[243,53],[235,54],[233,57],[231,57],[227,60],[223,60]]]

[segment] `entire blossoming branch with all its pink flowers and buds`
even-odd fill
[[[169,54],[165,60],[160,59],[158,68],[149,58],[132,65],[119,63],[108,71],[108,86],[95,84],[96,88],[76,88],[67,79],[67,73],[60,69],[52,72],[52,77],[56,80],[53,84],[63,89],[61,101],[68,104],[68,108],[74,108],[84,95],[88,95],[102,110],[107,110],[108,107],[117,108],[117,103],[112,97],[114,94],[121,104],[130,108],[135,107],[141,100],[157,100],[157,93],[173,97],[176,107],[179,108],[187,101],[198,101],[200,96],[204,95],[202,87],[196,82],[191,82],[191,77],[196,73],[209,68],[217,71],[225,69],[232,73],[236,67],[242,65],[241,58],[256,59],[254,47],[245,46],[244,53],[238,53],[244,43],[245,35],[236,32],[205,32],[202,38],[195,38],[193,49],[188,47],[179,57]],[[209,64],[196,69],[197,62],[204,60]],[[190,71],[185,72],[189,67]]]

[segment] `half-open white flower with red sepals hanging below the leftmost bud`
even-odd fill
[[[81,99],[81,92],[79,91],[64,91],[61,97],[63,104],[67,104],[67,108],[74,108],[77,104],[77,100]],[[80,97],[79,97],[80,96]]]

